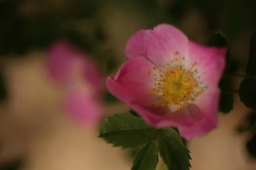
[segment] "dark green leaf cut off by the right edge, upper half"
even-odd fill
[[[256,32],[250,38],[250,51],[249,51],[249,58],[248,64],[246,68],[246,74],[251,77],[256,77]]]

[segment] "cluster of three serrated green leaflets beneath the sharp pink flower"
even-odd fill
[[[136,114],[134,111],[129,112]],[[155,170],[158,150],[169,170],[188,170],[191,167],[190,152],[177,129],[154,129],[138,116],[119,114],[105,119],[100,137],[114,147],[129,149],[131,156],[135,157],[132,170]]]

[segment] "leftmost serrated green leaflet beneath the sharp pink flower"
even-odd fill
[[[158,130],[143,119],[129,114],[115,114],[102,122],[100,135],[114,147],[132,148],[157,138]]]

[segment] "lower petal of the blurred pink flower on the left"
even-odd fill
[[[87,127],[99,125],[102,105],[93,95],[86,94],[83,89],[69,91],[64,100],[64,109],[81,125]]]

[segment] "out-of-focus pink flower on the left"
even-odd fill
[[[82,124],[97,125],[103,79],[90,56],[70,42],[58,40],[48,50],[47,67],[50,78],[65,88],[64,110]]]

